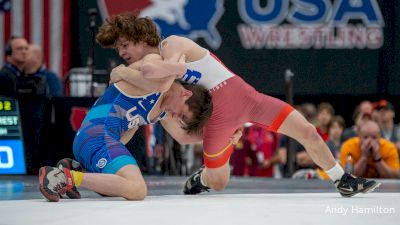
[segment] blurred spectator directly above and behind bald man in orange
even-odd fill
[[[354,125],[351,127],[348,127],[344,129],[343,135],[342,135],[342,142],[352,138],[356,137],[358,135],[358,130],[361,124],[365,123],[366,121],[372,120],[373,116],[372,114],[374,113],[374,110],[369,107],[369,104],[371,103],[369,101],[363,101],[359,105],[356,106],[353,112],[353,122]],[[372,107],[372,104],[371,104]]]

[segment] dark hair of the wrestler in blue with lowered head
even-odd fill
[[[183,129],[189,134],[201,134],[204,125],[210,119],[213,103],[210,92],[201,85],[185,84],[182,86],[192,92],[192,96],[186,100],[189,110],[193,113],[193,117],[187,122],[187,126]]]

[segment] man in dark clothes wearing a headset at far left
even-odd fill
[[[6,63],[0,70],[0,95],[17,98],[17,78],[24,75],[23,69],[28,51],[28,42],[23,37],[11,37],[5,47]]]

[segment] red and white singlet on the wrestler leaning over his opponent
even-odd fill
[[[289,104],[256,91],[209,51],[186,66],[181,81],[201,84],[213,97],[213,113],[203,132],[203,156],[208,168],[226,163],[233,151],[229,138],[245,122],[276,132],[293,110]]]

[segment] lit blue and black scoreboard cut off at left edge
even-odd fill
[[[0,174],[25,174],[18,102],[0,96]]]

